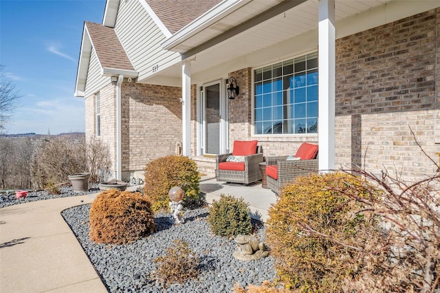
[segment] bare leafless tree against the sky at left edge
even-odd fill
[[[0,65],[0,133],[5,128],[5,122],[10,120],[11,111],[18,107],[21,98],[14,83],[6,78],[4,65]]]

